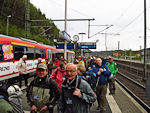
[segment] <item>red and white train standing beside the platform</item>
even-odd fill
[[[43,61],[45,59],[54,61],[63,54],[63,49],[56,49],[56,47],[25,38],[0,34],[0,81],[17,80],[19,76],[17,65],[23,55],[27,55],[27,71],[32,75],[36,71],[38,58],[42,58]],[[73,62],[74,57],[74,51],[67,50],[67,61]]]

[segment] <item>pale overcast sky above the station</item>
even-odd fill
[[[65,18],[65,0],[30,0],[49,19]],[[79,42],[97,42],[94,51],[139,50],[144,48],[144,0],[67,0],[67,19],[95,19],[88,21],[67,21],[67,33],[73,40],[79,35]],[[150,1],[147,0],[147,47],[150,47]],[[64,31],[64,21],[54,21]],[[107,30],[106,25],[112,25]],[[103,32],[100,32],[103,31]],[[97,34],[100,32],[99,34]],[[96,35],[95,35],[96,34]],[[82,39],[83,38],[83,39]],[[105,44],[106,42],[106,44]]]

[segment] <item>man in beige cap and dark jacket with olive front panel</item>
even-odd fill
[[[53,113],[53,107],[59,99],[59,89],[54,80],[48,77],[46,64],[40,63],[37,77],[27,88],[27,100],[32,112]]]

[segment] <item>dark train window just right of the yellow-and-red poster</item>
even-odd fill
[[[25,47],[23,46],[14,46],[14,59],[19,60],[25,53]]]

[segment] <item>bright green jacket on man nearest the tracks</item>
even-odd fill
[[[109,67],[109,70],[113,74],[113,76],[116,76],[116,73],[118,72],[117,64],[115,62],[107,62],[106,65]]]

